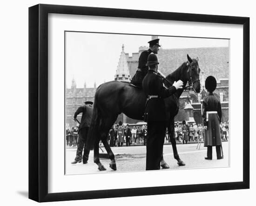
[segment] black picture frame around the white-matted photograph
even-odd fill
[[[48,14],[79,14],[243,25],[243,181],[183,186],[48,193]],[[38,202],[99,199],[249,188],[249,18],[39,4],[29,8],[29,199]]]

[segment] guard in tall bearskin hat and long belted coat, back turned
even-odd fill
[[[216,146],[217,159],[223,159],[220,131],[222,107],[219,97],[213,93],[216,85],[217,82],[213,76],[206,78],[205,88],[208,95],[202,101],[202,118],[205,128],[204,146],[207,146],[207,157],[205,159],[212,159],[212,146]]]

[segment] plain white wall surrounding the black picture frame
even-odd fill
[[[253,1],[203,1],[203,0],[9,0],[1,3],[1,126],[2,146],[0,150],[0,191],[1,205],[39,205],[27,199],[28,191],[28,7],[38,3],[63,4],[93,7],[115,7],[140,10],[203,13],[231,16],[249,16],[251,18],[250,37],[256,35],[256,14]],[[155,31],[152,31],[155,33]],[[253,57],[256,56],[256,41],[251,41],[251,86],[256,89],[255,72],[252,71]],[[238,82],[238,86],[242,83]],[[5,89],[8,87],[8,89]],[[251,88],[252,88],[251,87]],[[252,91],[252,90],[251,90]],[[251,103],[256,102],[255,95],[251,95]],[[256,110],[251,107],[251,128],[256,125]],[[256,144],[251,129],[251,146]],[[256,179],[255,158],[256,150],[251,151],[251,188],[248,190],[232,190],[204,193],[167,194],[144,197],[128,197],[115,199],[93,199],[66,202],[45,203],[44,206],[216,206],[216,205],[248,205],[255,204]],[[234,161],[234,160],[232,160]],[[174,161],[173,161],[174,162]],[[171,177],[170,178],[182,178]],[[198,176],[200,178],[200,174]],[[84,183],[78,183],[84,184]],[[40,204],[42,205],[42,204]]]

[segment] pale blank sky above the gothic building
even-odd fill
[[[159,38],[163,49],[229,46],[229,40],[166,36]],[[138,53],[139,47],[148,46],[149,40],[151,36],[148,35],[66,32],[67,88],[71,87],[73,78],[77,88],[82,88],[85,82],[87,87],[93,87],[94,82],[99,86],[104,81],[114,80],[122,45],[125,53],[132,56],[132,53]],[[193,58],[193,54],[190,56]]]

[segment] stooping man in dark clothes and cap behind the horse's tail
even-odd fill
[[[82,118],[80,125],[78,127],[78,142],[77,142],[77,150],[76,157],[71,164],[76,164],[77,162],[83,161],[83,164],[87,164],[90,150],[85,149],[87,135],[89,131],[89,126],[91,124],[92,115],[93,115],[93,102],[86,101],[84,102],[84,106],[80,106],[76,112],[74,113],[74,120],[77,121],[76,117],[78,114],[82,113]],[[82,155],[82,152],[84,153]]]

